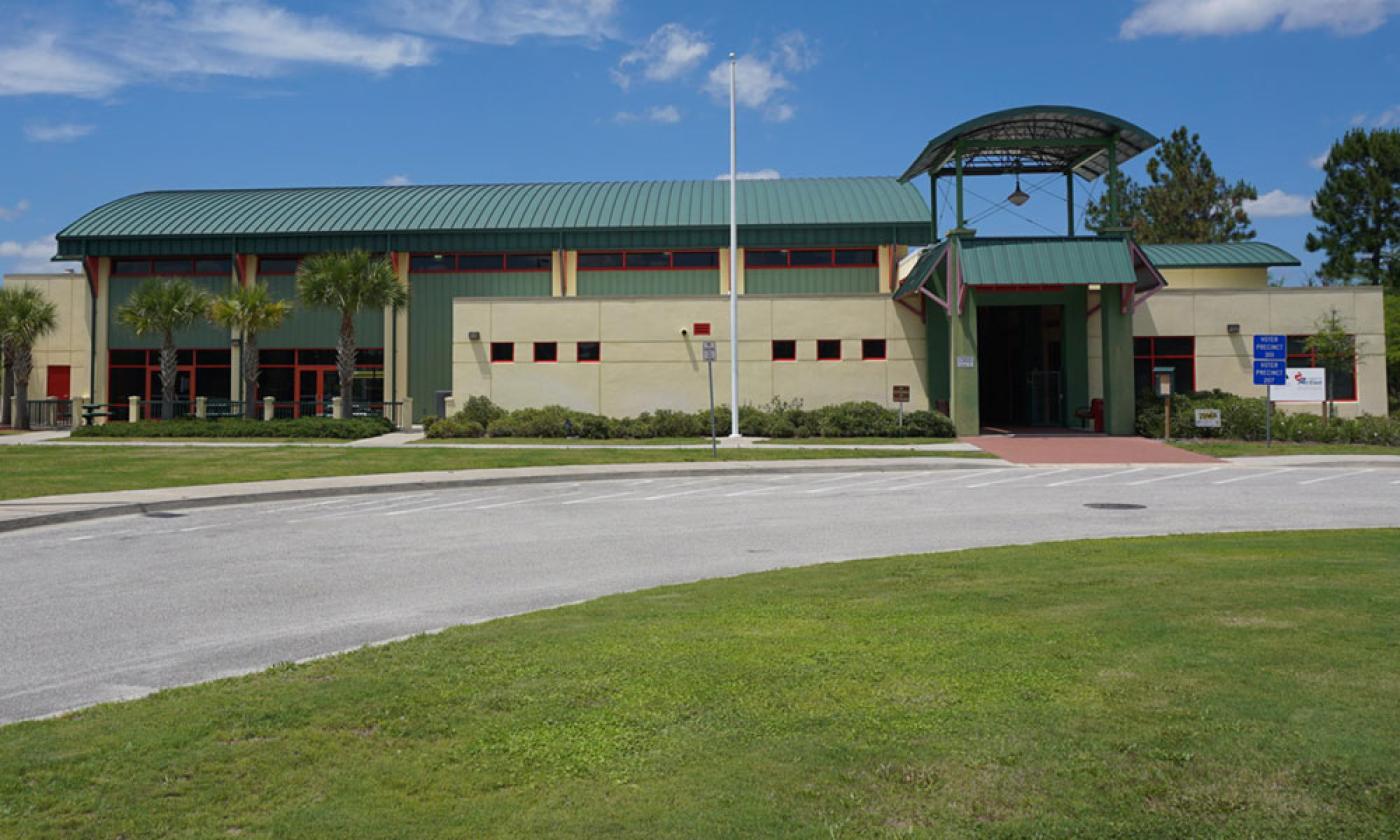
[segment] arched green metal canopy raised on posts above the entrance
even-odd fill
[[[1068,105],[1028,105],[986,113],[934,137],[900,175],[1078,172],[1093,181],[1156,146],[1155,134],[1117,116]],[[1109,150],[1114,155],[1110,157]]]

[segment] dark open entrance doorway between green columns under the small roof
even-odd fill
[[[977,308],[984,427],[1064,426],[1064,307]]]

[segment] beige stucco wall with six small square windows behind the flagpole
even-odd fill
[[[452,391],[458,403],[486,395],[507,407],[549,403],[613,417],[708,405],[704,337],[682,328],[708,322],[718,350],[715,399],[728,402],[728,302],[722,298],[482,300],[452,305]],[[480,332],[477,342],[468,333]],[[797,340],[797,361],[771,361],[774,339]],[[840,339],[840,361],[816,361],[816,339]],[[885,361],[861,361],[861,339],[885,339]],[[559,342],[559,363],[536,364],[533,342]],[[491,342],[515,342],[517,361],[490,363]],[[602,361],[578,363],[575,342],[601,342]],[[783,297],[739,302],[741,400],[801,399],[892,405],[909,385],[910,409],[928,407],[924,325],[885,297]]]

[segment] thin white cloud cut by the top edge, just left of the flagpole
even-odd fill
[[[385,21],[477,43],[522,38],[602,41],[615,34],[617,0],[392,0]]]

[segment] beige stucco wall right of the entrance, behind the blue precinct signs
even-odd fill
[[[1317,319],[1336,308],[1347,330],[1357,336],[1357,400],[1338,402],[1344,417],[1385,414],[1386,339],[1382,290],[1352,288],[1166,288],[1138,305],[1135,336],[1196,336],[1196,386],[1264,396],[1253,384],[1253,336],[1309,335]],[[1231,335],[1229,325],[1239,333]],[[1098,315],[1089,319],[1089,391],[1103,393]],[[1285,410],[1320,413],[1312,403],[1282,405]]]

